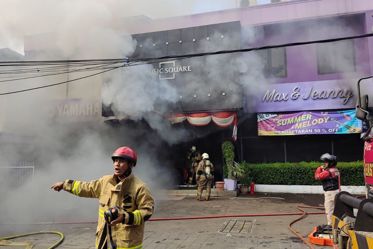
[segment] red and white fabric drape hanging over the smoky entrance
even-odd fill
[[[185,119],[191,125],[203,126],[210,124],[211,120],[220,127],[233,124],[233,140],[237,139],[237,114],[235,112],[203,112],[191,114],[173,114],[167,116],[172,124],[183,122]]]

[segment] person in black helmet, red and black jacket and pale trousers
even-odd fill
[[[332,228],[332,214],[334,211],[334,198],[339,192],[339,170],[335,167],[337,165],[337,157],[323,154],[320,159],[325,162],[325,165],[319,166],[315,172],[315,179],[322,181],[323,189],[325,191],[325,213],[327,217],[327,225]]]

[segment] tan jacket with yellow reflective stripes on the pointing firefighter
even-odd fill
[[[119,212],[125,213],[125,224],[111,227],[117,249],[142,248],[145,221],[153,214],[154,200],[148,186],[133,173],[118,184],[115,175],[104,175],[90,182],[66,180],[63,190],[80,197],[98,198],[96,248],[101,249],[105,242],[109,247],[104,212],[113,206],[123,208]]]

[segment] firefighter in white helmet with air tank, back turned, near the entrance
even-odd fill
[[[214,180],[214,166],[207,153],[202,154],[202,160],[198,164],[196,179],[198,181],[197,200],[201,201],[203,188],[206,186],[205,200],[210,200],[211,186]]]

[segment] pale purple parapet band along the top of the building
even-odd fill
[[[123,25],[123,31],[128,34],[140,34],[232,21],[240,21],[242,27],[247,27],[359,13],[372,9],[372,0],[293,0],[172,18],[128,22]]]

